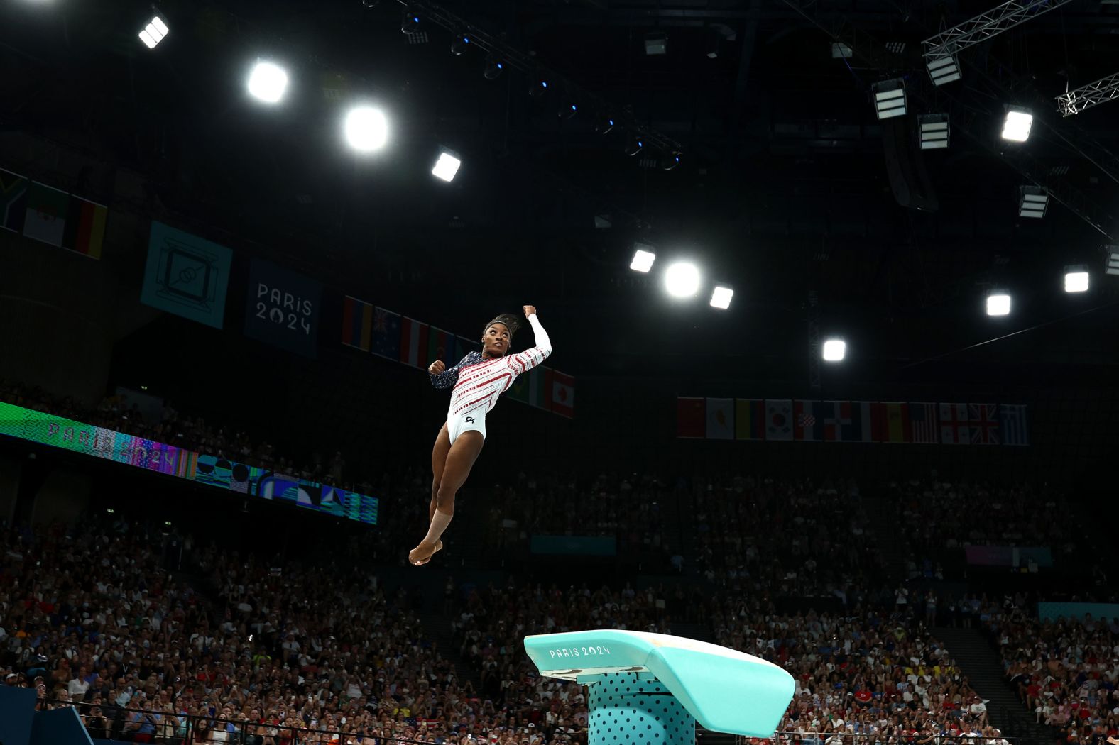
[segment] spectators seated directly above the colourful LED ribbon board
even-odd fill
[[[170,404],[141,408],[135,402],[130,403],[125,394],[117,394],[90,408],[73,397],[53,396],[41,387],[4,378],[0,378],[0,400],[288,475],[326,481],[357,491],[364,488],[366,491],[363,493],[368,493],[369,489],[368,483],[358,484],[350,478],[340,451],[332,455],[312,453],[310,462],[297,462],[269,442],[256,441],[248,433],[233,427],[207,423],[200,416],[180,413]]]

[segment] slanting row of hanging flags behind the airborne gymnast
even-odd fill
[[[478,351],[481,347],[480,341],[471,341],[349,295],[342,305],[341,341],[347,347],[422,370],[436,359],[453,367],[468,352]],[[505,395],[560,416],[575,416],[575,378],[543,365],[518,375]]]

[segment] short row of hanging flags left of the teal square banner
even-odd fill
[[[0,228],[101,258],[109,208],[0,168]]]

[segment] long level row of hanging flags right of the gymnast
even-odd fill
[[[681,396],[676,434],[699,440],[1029,444],[1025,404]]]

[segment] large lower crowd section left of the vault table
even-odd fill
[[[190,585],[166,568],[167,540],[123,520],[6,529],[4,683],[134,742],[545,745],[543,725],[528,732],[458,680],[415,597],[352,570],[359,543],[278,565],[175,537],[199,573]],[[579,733],[547,732],[556,745]]]

